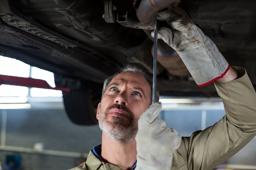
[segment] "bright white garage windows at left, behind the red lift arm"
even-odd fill
[[[16,77],[31,77],[45,80],[52,87],[54,75],[52,72],[32,67],[19,60],[0,56],[0,74]],[[0,85],[0,97],[61,97],[60,90],[27,88],[23,86]]]

